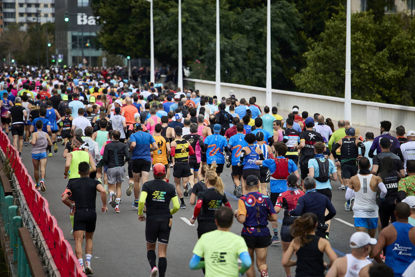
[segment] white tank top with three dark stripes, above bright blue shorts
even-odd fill
[[[354,193],[353,217],[377,218],[379,207],[376,205],[376,191],[370,189],[370,180],[374,175],[357,176],[360,189]]]

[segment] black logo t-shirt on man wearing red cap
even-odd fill
[[[152,180],[143,184],[142,191],[147,193],[147,220],[172,218],[170,201],[176,196],[176,187],[163,180]]]

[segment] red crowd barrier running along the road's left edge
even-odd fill
[[[59,270],[60,276],[86,277],[85,273],[83,273],[82,271],[81,265],[79,265],[78,258],[73,253],[71,245],[67,240],[65,240],[63,232],[61,228],[59,228],[56,218],[52,216],[49,212],[48,201],[43,196],[41,196],[39,191],[35,189],[32,177],[27,173],[27,170],[19,157],[19,152],[17,152],[15,148],[12,145],[10,145],[10,140],[8,139],[7,135],[1,131],[0,147],[6,154],[6,156],[10,159],[13,169],[15,169],[15,175],[18,183],[20,184],[22,194],[26,199],[27,207],[29,208],[30,212],[32,213],[32,216],[34,217],[34,220],[36,221],[39,229],[41,230],[41,233],[48,246],[48,249],[51,252],[53,260],[56,264],[56,267]],[[5,198],[8,197],[4,196],[4,191],[0,191],[0,195],[1,194]],[[12,215],[13,214],[7,214],[7,218],[9,218]],[[19,218],[16,219],[16,216],[12,217],[12,219],[17,222],[19,221]],[[15,225],[21,227],[18,223],[15,223]],[[19,250],[17,249],[17,247],[21,245],[21,243],[18,243],[19,236],[17,234],[17,229],[13,234],[14,235],[12,245],[15,246],[16,253],[14,253],[14,255],[17,259],[19,255]],[[12,238],[10,239],[12,240]]]

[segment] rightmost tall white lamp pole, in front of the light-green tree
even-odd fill
[[[352,70],[350,69],[350,16],[351,0],[347,0],[346,15],[346,79],[344,85],[344,119],[352,124]]]

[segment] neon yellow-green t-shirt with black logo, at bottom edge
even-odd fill
[[[238,277],[238,256],[248,252],[245,240],[232,232],[215,230],[203,234],[193,253],[205,258],[205,277]]]

